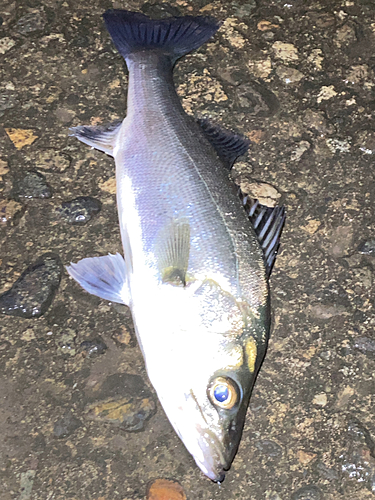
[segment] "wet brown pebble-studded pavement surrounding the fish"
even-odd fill
[[[65,271],[58,285],[60,260],[121,251],[114,163],[68,136],[125,115],[110,7],[225,20],[178,63],[178,92],[251,139],[235,182],[287,209],[269,350],[221,486],[172,431],[128,309]],[[0,16],[1,500],[374,498],[374,2],[3,0]]]

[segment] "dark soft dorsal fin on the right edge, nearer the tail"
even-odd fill
[[[198,125],[202,127],[206,138],[228,169],[231,169],[236,159],[249,149],[250,140],[242,135],[212,125],[207,119],[198,120]]]

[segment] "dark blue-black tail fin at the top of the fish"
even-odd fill
[[[125,59],[132,52],[160,49],[175,62],[205,43],[221,25],[209,16],[153,20],[138,12],[116,9],[107,10],[103,17],[117,50]]]

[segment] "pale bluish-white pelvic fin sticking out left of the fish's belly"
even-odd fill
[[[129,305],[128,271],[119,253],[82,259],[77,264],[71,263],[66,270],[86,292]]]

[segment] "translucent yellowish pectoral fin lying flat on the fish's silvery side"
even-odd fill
[[[175,286],[186,285],[190,253],[190,226],[187,221],[172,220],[158,234],[155,255],[161,279]]]

